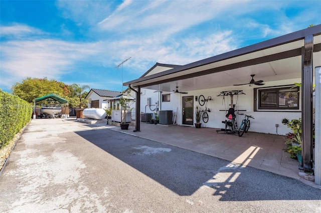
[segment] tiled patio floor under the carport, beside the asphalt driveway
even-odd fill
[[[184,125],[162,125],[140,123],[140,131],[135,126],[122,130],[118,126],[104,123],[112,130],[162,142],[196,152],[231,161],[231,166],[251,166],[287,177],[299,179],[305,184],[321,188],[313,181],[299,176],[298,160],[291,159],[285,151],[284,135],[247,132],[242,137],[237,133],[217,133],[216,128],[195,128]]]

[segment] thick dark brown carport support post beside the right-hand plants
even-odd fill
[[[304,170],[312,171],[312,60],[313,35],[304,37],[302,48],[302,164]]]

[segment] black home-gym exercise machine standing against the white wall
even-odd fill
[[[236,121],[236,114],[235,111],[246,111],[246,110],[235,110],[235,105],[233,103],[233,95],[237,95],[237,100],[238,100],[238,95],[239,94],[245,94],[243,92],[243,90],[229,90],[229,91],[221,91],[221,93],[217,96],[223,96],[223,101],[225,104],[225,96],[230,96],[231,97],[231,104],[230,104],[230,108],[228,109],[228,111],[223,110],[226,112],[225,117],[227,119],[223,120],[222,123],[225,123],[225,128],[221,128],[221,130],[216,130],[216,132],[218,133],[219,131],[224,131],[225,133],[237,133],[238,132],[238,127],[237,127],[237,121]],[[237,103],[237,101],[236,101]],[[221,110],[220,110],[221,111]]]

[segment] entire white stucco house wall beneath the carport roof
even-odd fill
[[[172,93],[171,94],[171,101],[170,102],[161,102],[162,98],[159,97],[159,92],[153,92],[154,90],[144,89],[142,88],[141,94],[141,102],[140,102],[140,109],[142,112],[155,112],[155,101],[161,102],[161,110],[173,110],[173,114],[175,115],[176,111],[178,111],[176,122],[177,124],[182,124],[182,97],[183,96],[193,96],[194,99],[194,108],[196,105],[199,105],[198,101],[195,101],[195,96],[204,95],[205,98],[208,96],[212,97],[212,100],[207,102],[207,107],[211,109],[209,114],[209,121],[207,123],[202,123],[202,127],[211,127],[211,128],[224,128],[225,125],[222,123],[222,120],[225,120],[225,111],[220,110],[228,110],[230,107],[230,96],[225,96],[225,105],[223,101],[223,96],[217,96],[220,94],[221,91],[227,90],[243,90],[245,94],[240,94],[237,96],[233,96],[234,104],[237,101],[236,109],[246,110],[240,111],[240,113],[246,113],[253,115],[255,119],[251,119],[251,127],[249,131],[255,132],[264,132],[264,133],[272,133],[272,134],[282,134],[285,135],[286,133],[290,132],[291,130],[287,128],[287,126],[281,123],[282,118],[288,118],[289,120],[301,117],[301,111],[296,110],[293,112],[284,112],[284,111],[254,111],[254,90],[253,88],[261,88],[261,87],[268,87],[268,86],[282,86],[282,85],[289,85],[293,84],[294,82],[301,82],[300,78],[295,79],[286,79],[286,80],[277,80],[277,81],[268,81],[264,82],[265,85],[257,86],[254,84],[247,84],[241,86],[227,86],[227,87],[217,87],[217,88],[210,88],[210,89],[200,89],[200,90],[193,90],[188,91],[188,94],[181,94],[181,93]],[[167,92],[163,92],[165,94]],[[299,93],[300,94],[300,93]],[[151,106],[146,106],[147,97],[151,98]],[[159,99],[160,98],[160,99]],[[301,97],[300,97],[301,100]],[[301,101],[299,101],[301,102]],[[301,103],[299,103],[299,109],[301,109]],[[202,106],[203,109],[205,105]],[[154,110],[152,110],[154,109]],[[242,121],[243,115],[237,115],[237,121],[240,123]],[[195,119],[195,117],[194,117]],[[201,120],[202,122],[202,120]],[[278,124],[277,132],[275,124]]]

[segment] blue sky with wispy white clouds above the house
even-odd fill
[[[0,9],[8,92],[27,76],[120,91],[156,62],[184,65],[321,23],[321,0],[0,0]]]

